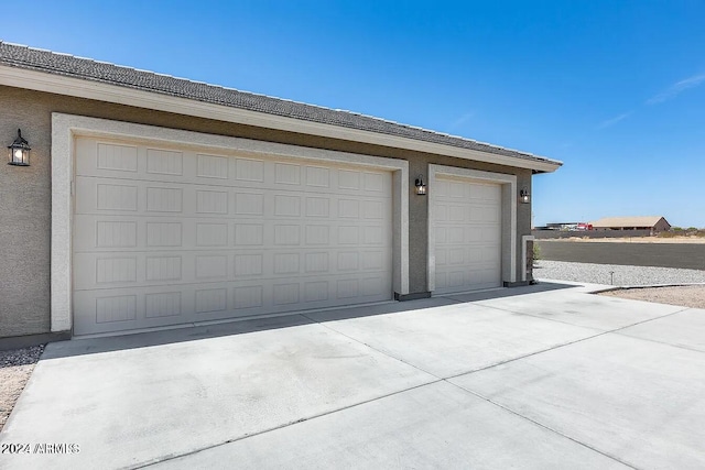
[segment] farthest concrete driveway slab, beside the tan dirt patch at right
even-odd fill
[[[462,297],[458,296],[452,298],[462,300]],[[684,307],[673,305],[607,297],[574,289],[492,298],[477,304],[603,331],[610,331],[684,309]]]

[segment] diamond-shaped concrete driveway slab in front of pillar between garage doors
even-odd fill
[[[535,302],[541,303],[541,297]],[[490,367],[598,335],[596,329],[517,315],[477,304],[334,320],[325,326],[438,378]]]

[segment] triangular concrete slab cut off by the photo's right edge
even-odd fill
[[[705,309],[688,308],[619,334],[705,352]]]

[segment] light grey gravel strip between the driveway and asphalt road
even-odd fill
[[[612,273],[612,274],[610,274]],[[540,260],[535,278],[563,280],[616,286],[705,283],[705,271],[675,267],[621,266]]]

